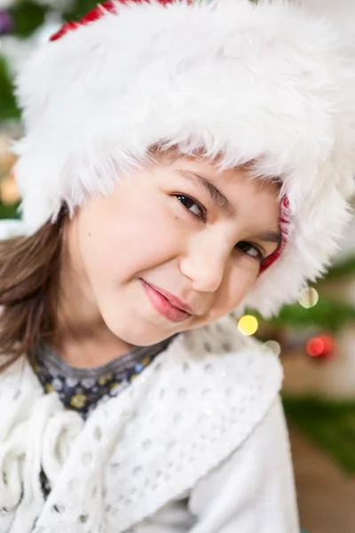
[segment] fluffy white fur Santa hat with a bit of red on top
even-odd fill
[[[282,180],[288,242],[246,303],[267,315],[295,300],[349,219],[355,56],[342,32],[284,0],[99,10],[44,44],[18,77],[25,223],[33,231],[63,203],[73,210],[109,193],[158,142],[222,154],[227,167],[253,161]]]

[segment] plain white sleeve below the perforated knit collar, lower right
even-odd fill
[[[225,520],[231,530],[299,531],[292,460],[280,398],[272,403],[244,445],[196,483],[189,508],[202,522],[206,521],[206,509],[213,510],[218,531],[224,528]]]

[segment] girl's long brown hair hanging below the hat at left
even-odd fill
[[[0,241],[0,371],[54,334],[65,218]]]

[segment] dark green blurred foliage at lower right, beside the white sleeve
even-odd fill
[[[325,449],[348,473],[355,473],[355,401],[284,398],[290,421]]]

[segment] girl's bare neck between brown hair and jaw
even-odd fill
[[[68,364],[92,368],[132,346],[108,330],[99,313],[76,243],[75,219],[67,223],[59,280],[59,312],[52,347]]]

